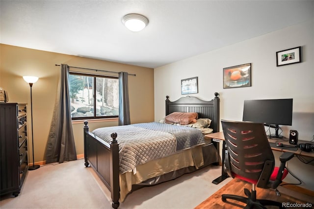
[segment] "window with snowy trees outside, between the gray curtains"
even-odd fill
[[[69,93],[72,120],[119,115],[119,80],[116,77],[70,73]]]

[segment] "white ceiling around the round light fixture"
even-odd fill
[[[303,0],[0,0],[2,44],[156,68],[313,19]],[[128,13],[144,30],[122,24]]]

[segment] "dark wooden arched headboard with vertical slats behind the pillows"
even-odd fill
[[[219,93],[214,93],[214,99],[203,101],[197,97],[182,97],[177,101],[171,102],[169,96],[166,96],[166,115],[172,112],[197,112],[199,118],[209,118],[211,120],[210,128],[213,132],[219,132]]]

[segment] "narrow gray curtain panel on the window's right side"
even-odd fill
[[[128,73],[119,72],[119,126],[130,125]]]

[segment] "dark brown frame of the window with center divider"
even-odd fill
[[[116,76],[105,76],[105,75],[99,75],[99,74],[90,74],[90,73],[81,73],[81,72],[69,72],[69,76],[70,75],[77,75],[77,76],[88,76],[88,77],[93,77],[93,100],[94,100],[94,116],[88,116],[88,117],[75,117],[73,118],[71,115],[71,120],[72,121],[77,121],[77,120],[91,120],[91,119],[104,119],[104,118],[119,118],[119,115],[109,115],[109,116],[96,116],[96,78],[109,78],[109,79],[119,79]],[[70,83],[69,83],[69,87],[70,87]],[[69,90],[69,88],[68,88]],[[71,106],[71,103],[70,103]]]

